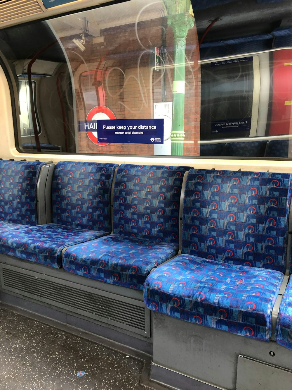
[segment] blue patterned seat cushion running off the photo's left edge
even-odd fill
[[[63,248],[93,240],[105,234],[105,232],[95,230],[47,223],[0,234],[0,252],[60,268]]]

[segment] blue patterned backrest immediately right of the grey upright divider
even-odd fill
[[[111,186],[117,164],[60,161],[52,181],[52,221],[111,232]]]

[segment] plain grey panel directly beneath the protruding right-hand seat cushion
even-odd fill
[[[262,342],[157,312],[153,317],[155,365],[228,390],[236,390],[239,355],[292,371],[291,351],[275,341]]]

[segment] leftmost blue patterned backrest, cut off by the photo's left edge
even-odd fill
[[[0,161],[0,221],[35,226],[40,161]]]

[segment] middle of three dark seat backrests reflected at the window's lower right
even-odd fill
[[[264,157],[267,141],[227,142],[225,156]]]

